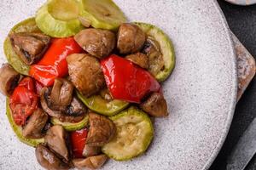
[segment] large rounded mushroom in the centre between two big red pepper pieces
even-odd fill
[[[67,64],[71,82],[85,97],[104,87],[105,79],[96,58],[89,54],[71,54],[67,56]]]

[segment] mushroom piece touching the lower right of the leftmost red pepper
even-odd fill
[[[29,117],[26,126],[22,130],[22,134],[28,139],[42,138],[42,130],[46,122],[48,121],[48,115],[41,109],[37,109]]]

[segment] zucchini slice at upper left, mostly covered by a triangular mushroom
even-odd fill
[[[14,26],[9,33],[19,33],[19,32],[41,32],[36,25],[36,21],[34,18],[30,18],[27,20],[23,20]],[[9,37],[7,37],[3,43],[3,50],[8,60],[9,64],[12,65],[15,71],[18,71],[20,74],[28,75],[28,71],[30,70],[30,66],[26,65],[20,57],[15,54],[13,50],[12,44],[10,42]]]

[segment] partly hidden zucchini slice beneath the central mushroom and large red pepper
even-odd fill
[[[82,94],[77,92],[79,99],[86,105],[91,111],[95,111],[96,113],[100,113],[104,116],[113,116],[117,114],[119,111],[124,110],[129,103],[119,100],[113,99],[108,101],[103,99],[101,95],[93,95],[89,98],[85,98]]]

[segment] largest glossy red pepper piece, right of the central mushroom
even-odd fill
[[[158,92],[160,83],[148,72],[131,61],[111,55],[101,61],[108,89],[114,99],[140,103],[150,92]]]

